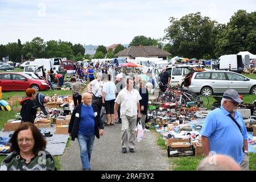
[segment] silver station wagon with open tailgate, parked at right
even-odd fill
[[[184,82],[190,91],[204,96],[222,94],[227,89],[234,89],[238,93],[256,94],[256,80],[230,71],[191,72]]]

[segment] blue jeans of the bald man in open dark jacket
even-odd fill
[[[92,155],[93,150],[94,134],[89,136],[78,134],[77,140],[79,141],[80,146],[82,168],[90,169],[90,155]]]

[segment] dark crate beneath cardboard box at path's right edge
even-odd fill
[[[182,147],[182,148],[171,148],[167,147],[168,157],[172,156],[194,156],[195,155],[195,147],[191,145],[190,147]]]

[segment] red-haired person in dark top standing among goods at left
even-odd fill
[[[22,106],[20,110],[20,116],[22,117],[22,122],[34,123],[36,116],[36,108],[34,107],[33,101],[36,97],[36,90],[33,88],[28,88],[26,90],[27,97],[20,101],[19,104]]]

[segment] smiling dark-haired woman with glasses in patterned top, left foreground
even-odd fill
[[[47,152],[46,140],[30,122],[22,123],[12,135],[11,155],[3,160],[0,171],[55,171],[55,162]]]

